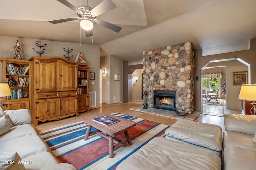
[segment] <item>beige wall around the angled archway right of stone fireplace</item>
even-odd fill
[[[196,49],[195,51],[195,75],[199,76],[199,80],[195,81],[195,109],[196,111],[202,111],[202,98],[201,98],[201,89],[202,89],[202,70],[201,68],[205,66],[209,61],[216,61],[220,59],[241,59],[246,63],[250,64],[250,72],[251,72],[251,84],[256,84],[256,67],[254,64],[256,63],[256,39],[251,40],[250,50],[245,51],[237,51],[232,53],[224,53],[218,55],[209,55],[209,56],[202,56],[202,50]],[[239,61],[226,61],[227,63],[215,63],[219,66],[226,65],[226,81],[227,84],[231,84],[233,82],[233,72],[236,71],[245,71],[247,67],[244,64],[240,63]],[[233,63],[232,63],[233,62]],[[232,83],[233,84],[233,83]],[[233,86],[230,85],[227,87],[227,107],[230,109],[241,109],[241,101],[238,100],[239,92],[241,86]]]

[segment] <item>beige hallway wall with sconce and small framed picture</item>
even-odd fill
[[[101,57],[100,67],[106,70],[102,76],[102,102],[123,102],[123,62],[113,56]],[[114,80],[114,74],[120,74],[120,81]]]

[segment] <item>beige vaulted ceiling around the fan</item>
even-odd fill
[[[88,0],[94,8],[103,0]],[[74,6],[86,0],[68,0]],[[99,45],[101,57],[112,55],[142,63],[148,49],[191,41],[203,55],[248,49],[256,38],[256,0],[112,0],[116,9],[98,18],[122,27],[119,33],[94,25],[92,37],[81,32],[81,43]],[[0,6],[0,35],[80,42],[79,21],[49,20],[77,17],[57,0],[5,0]]]

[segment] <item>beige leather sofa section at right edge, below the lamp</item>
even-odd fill
[[[224,170],[256,169],[256,115],[224,115]]]

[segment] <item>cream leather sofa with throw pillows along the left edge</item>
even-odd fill
[[[0,109],[0,169],[76,170],[59,163],[31,126],[28,109]],[[22,162],[21,162],[22,161]]]

